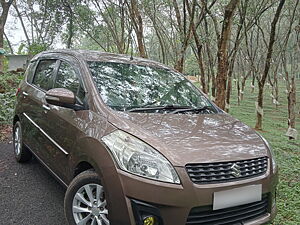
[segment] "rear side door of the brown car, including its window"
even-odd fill
[[[33,78],[26,81],[22,88],[22,125],[24,143],[48,166],[53,144],[49,140],[45,127],[45,93],[52,86],[56,59],[40,59]],[[33,71],[32,71],[33,73]]]

